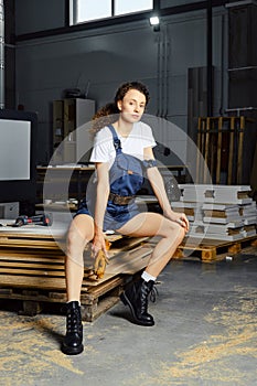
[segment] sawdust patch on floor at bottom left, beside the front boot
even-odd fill
[[[51,379],[53,373],[56,376],[56,368],[84,374],[74,366],[71,357],[56,349],[56,340],[63,333],[60,318],[39,319],[4,313],[1,319],[0,385],[23,385],[24,379],[26,385],[31,385],[40,374]]]

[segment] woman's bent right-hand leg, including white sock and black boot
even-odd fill
[[[148,296],[153,288],[156,278],[169,262],[176,247],[182,242],[185,230],[179,224],[164,218],[160,214],[141,213],[130,219],[118,232],[124,235],[138,237],[161,237],[152,251],[150,261],[141,279],[130,285],[120,296],[125,305],[129,305],[137,324],[153,325],[154,320],[148,313]]]

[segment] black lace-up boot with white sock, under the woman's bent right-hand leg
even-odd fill
[[[137,324],[153,325],[154,320],[148,313],[148,296],[153,288],[154,281],[139,281],[132,283],[121,293],[120,299],[125,305],[129,305]]]

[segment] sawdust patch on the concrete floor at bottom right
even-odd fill
[[[161,363],[156,377],[141,375],[137,380],[147,385],[247,385],[256,380],[247,369],[236,368],[234,358],[257,358],[257,289],[236,287],[235,292],[217,301],[205,321],[221,326],[222,334],[178,352],[176,363]],[[192,324],[193,325],[193,324]],[[248,380],[247,380],[248,379]],[[128,385],[128,384],[127,384]]]

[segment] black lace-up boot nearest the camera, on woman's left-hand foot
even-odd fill
[[[83,346],[83,324],[78,301],[71,301],[66,309],[66,335],[62,343],[62,352],[66,355],[81,354]]]

